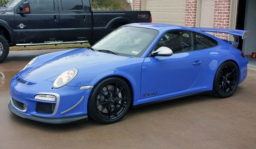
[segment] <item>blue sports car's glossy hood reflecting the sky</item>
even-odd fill
[[[127,59],[127,57],[95,52],[85,48],[74,49],[39,56],[33,65],[21,71],[20,75],[26,80],[40,82],[57,77],[72,68],[78,68],[79,73],[79,67],[121,59]]]

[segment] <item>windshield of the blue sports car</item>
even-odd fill
[[[102,38],[92,48],[115,52],[122,56],[140,57],[158,35],[154,29],[120,27]]]

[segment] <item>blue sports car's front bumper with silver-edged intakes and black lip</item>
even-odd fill
[[[9,109],[12,113],[22,118],[53,124],[88,119],[87,100],[91,89],[71,86],[54,89],[50,81],[27,83],[24,80],[17,75],[10,82]],[[52,95],[56,98],[55,101],[44,101],[36,99],[36,95]]]

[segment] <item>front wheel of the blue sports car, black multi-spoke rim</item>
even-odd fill
[[[88,101],[89,117],[100,123],[115,123],[130,109],[130,86],[121,78],[107,78],[93,87]]]

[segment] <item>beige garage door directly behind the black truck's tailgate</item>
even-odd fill
[[[186,0],[146,0],[154,23],[185,26]]]

